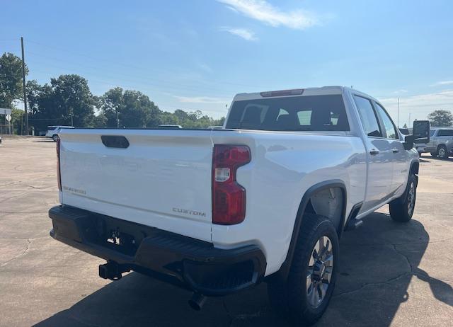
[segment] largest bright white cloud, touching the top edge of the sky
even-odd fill
[[[296,30],[304,30],[319,24],[318,19],[306,11],[281,11],[265,0],[217,0],[244,16],[256,19],[273,27],[285,26]]]

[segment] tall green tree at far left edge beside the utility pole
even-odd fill
[[[26,66],[25,74],[28,74]],[[23,99],[22,60],[5,52],[0,57],[0,107],[12,108],[13,101],[18,99]]]

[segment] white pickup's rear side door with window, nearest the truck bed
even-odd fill
[[[377,113],[368,98],[354,95],[362,127],[365,131],[367,148],[367,187],[360,212],[366,212],[384,202],[389,196],[393,175],[393,144],[384,136]]]

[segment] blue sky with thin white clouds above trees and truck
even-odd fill
[[[450,0],[1,0],[1,12],[0,53],[20,56],[23,36],[40,84],[80,74],[97,96],[120,86],[216,118],[236,93],[328,85],[378,98],[400,126],[453,110]]]

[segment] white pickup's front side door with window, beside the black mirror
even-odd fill
[[[384,137],[391,144],[391,161],[393,161],[393,176],[391,178],[391,186],[389,195],[394,195],[401,188],[406,188],[408,178],[408,158],[409,154],[404,149],[403,140],[399,138],[394,122],[386,112],[384,107],[373,101],[374,109],[379,118]]]

